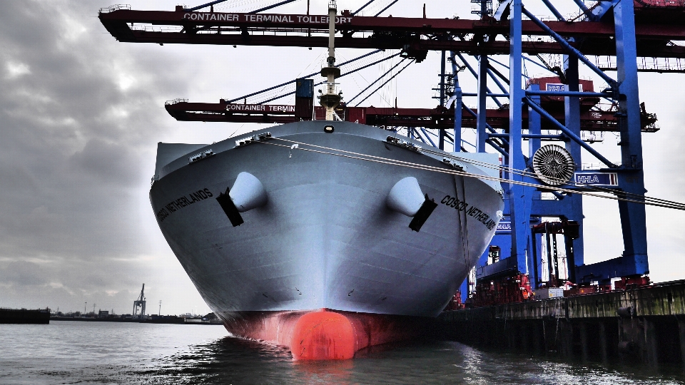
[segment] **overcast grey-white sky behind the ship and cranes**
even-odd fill
[[[357,9],[365,1],[339,1]],[[275,1],[233,0],[216,11],[251,11]],[[390,3],[378,0],[368,14]],[[542,2],[524,1],[534,14]],[[570,14],[572,1],[560,9]],[[173,10],[177,1],[132,0],[133,9]],[[188,4],[194,6],[201,2]],[[312,14],[327,1],[312,0]],[[156,145],[213,143],[264,125],[177,122],[164,109],[174,98],[218,102],[318,70],[325,49],[158,46],[119,43],[100,24],[109,1],[3,1],[0,12],[0,307],[130,313],[145,283],[148,313],[210,311],[163,239],[148,201]],[[470,1],[430,1],[428,17],[471,19]],[[306,1],[274,13],[303,14]],[[422,15],[400,0],[384,15]],[[342,60],[367,51],[338,50]],[[386,52],[378,57],[389,56]],[[506,59],[505,59],[506,60]],[[397,61],[342,78],[355,95]],[[475,64],[472,61],[472,64]],[[439,54],[413,64],[365,106],[433,108]],[[542,75],[530,68],[529,75]],[[589,71],[582,71],[591,76]],[[615,73],[609,73],[615,76]],[[465,92],[475,81],[460,74]],[[643,135],[648,195],[685,202],[685,74],[640,73],[641,101],[661,130]],[[596,82],[596,86],[599,83]],[[255,100],[256,101],[256,100]],[[289,104],[284,98],[274,103]],[[475,105],[475,100],[467,101]],[[472,135],[466,130],[465,135]],[[597,150],[619,160],[607,133]],[[587,154],[587,153],[586,153]],[[584,155],[585,156],[585,155]],[[592,162],[586,160],[583,162]],[[615,202],[586,198],[587,263],[621,255]],[[653,281],[685,278],[681,212],[647,207]]]

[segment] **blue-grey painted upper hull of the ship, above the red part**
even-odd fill
[[[272,127],[275,138],[265,143],[236,148],[233,138],[158,162],[150,198],[168,244],[218,314],[328,308],[435,317],[492,239],[497,224],[479,218],[497,222],[502,198],[476,178],[291,149],[285,141],[450,170],[440,157],[385,143],[388,131],[335,122],[335,132],[324,133],[324,125]],[[188,164],[208,149],[215,155]],[[164,151],[158,160],[170,158]],[[268,202],[233,227],[215,198],[241,172],[263,183]],[[386,205],[406,177],[438,204],[419,232]],[[467,203],[462,211],[447,205],[457,195]],[[473,216],[471,207],[484,214]]]

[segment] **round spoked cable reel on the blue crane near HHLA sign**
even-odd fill
[[[575,168],[571,153],[560,145],[544,145],[533,155],[533,171],[547,185],[567,183],[573,177]]]

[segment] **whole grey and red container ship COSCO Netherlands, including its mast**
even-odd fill
[[[331,31],[335,12],[332,1]],[[333,35],[327,120],[159,143],[150,190],[163,236],[228,332],[299,360],[416,337],[482,255],[504,205],[497,155],[335,120]]]

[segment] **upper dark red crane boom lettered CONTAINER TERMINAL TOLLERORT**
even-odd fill
[[[685,58],[684,7],[645,7],[636,4],[635,36],[638,56]],[[328,46],[328,16],[306,14],[240,14],[187,11],[137,11],[102,9],[99,18],[118,41],[133,43],[186,43],[246,46]],[[607,21],[602,21],[607,19]],[[560,36],[582,38],[572,43],[585,55],[612,56],[616,53],[612,18],[600,21],[544,21]],[[509,21],[483,19],[430,19],[409,17],[352,16],[342,11],[336,18],[340,48],[402,49],[409,51],[459,51],[508,54]],[[522,51],[529,54],[565,53],[534,21],[522,20]],[[445,39],[451,36],[455,39]]]

